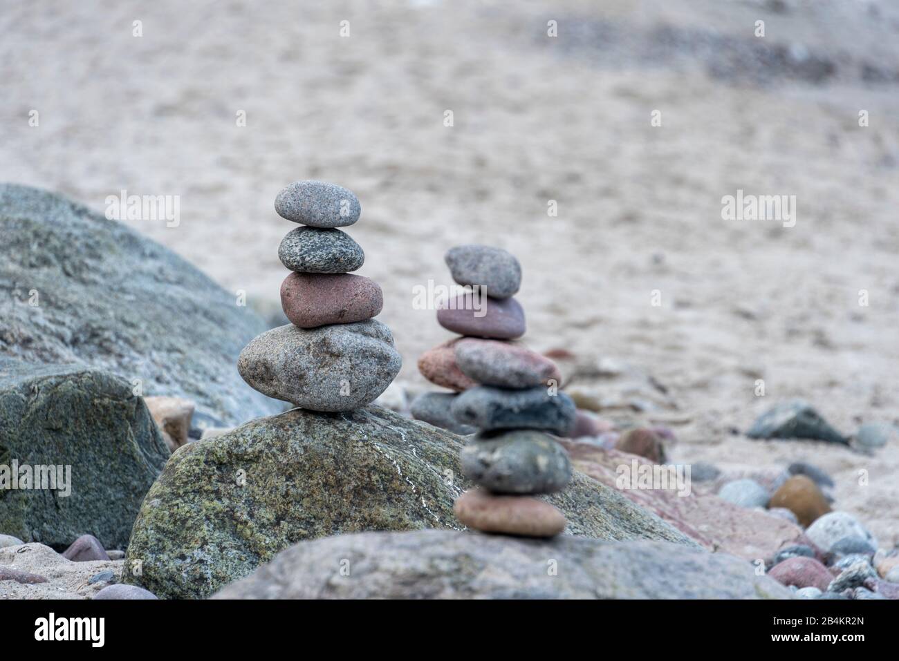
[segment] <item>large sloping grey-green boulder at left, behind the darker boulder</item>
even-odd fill
[[[212,426],[281,410],[237,374],[263,320],[174,252],[12,184],[0,184],[0,236],[0,356],[102,368],[196,401]]]

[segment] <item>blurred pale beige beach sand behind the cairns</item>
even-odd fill
[[[732,433],[797,396],[844,433],[899,418],[896,4],[92,0],[4,3],[0,31],[0,180],[101,212],[120,189],[179,195],[177,228],[130,225],[275,309],[294,226],[276,193],[341,183],[419,389],[417,356],[449,333],[413,287],[449,283],[452,245],[501,246],[530,345],[663,384],[648,417],[680,437],[675,461],[810,461],[899,542],[895,439],[870,457]],[[736,189],[796,195],[796,226],[722,220]]]

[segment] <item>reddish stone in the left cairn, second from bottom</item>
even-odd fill
[[[300,328],[363,322],[377,316],[383,304],[377,282],[350,273],[291,273],[281,283],[281,307]]]

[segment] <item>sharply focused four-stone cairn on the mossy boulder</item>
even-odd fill
[[[278,249],[291,270],[280,288],[290,323],[252,339],[237,370],[255,390],[301,409],[365,406],[387,389],[402,361],[390,329],[372,319],[383,305],[381,288],[350,274],[365,253],[336,229],[359,220],[359,200],[342,186],[295,181],[275,198],[275,211],[300,224]]]

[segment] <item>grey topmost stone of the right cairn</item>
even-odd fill
[[[443,260],[459,285],[482,286],[485,294],[508,298],[521,286],[521,264],[511,252],[487,245],[458,245]]]

